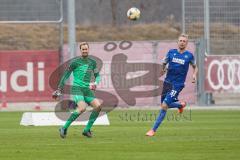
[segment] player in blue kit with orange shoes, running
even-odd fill
[[[146,136],[154,136],[158,127],[164,120],[168,108],[178,108],[178,112],[182,113],[186,102],[180,102],[178,95],[184,88],[184,83],[187,77],[189,64],[193,67],[192,82],[196,82],[198,68],[194,56],[186,50],[188,44],[188,35],[182,34],[178,38],[178,49],[171,49],[167,53],[163,62],[163,71],[167,70],[167,75],[163,84],[163,92],[161,97],[161,110],[156,119],[156,122],[151,130],[146,133]],[[166,65],[168,64],[168,69]],[[168,86],[171,85],[169,90]]]

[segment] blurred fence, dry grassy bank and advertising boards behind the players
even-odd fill
[[[133,6],[141,11],[137,21],[126,16]],[[103,61],[99,89],[129,106],[112,81],[113,58],[124,54],[128,64],[160,64],[181,33],[189,35],[200,71],[196,85],[190,71],[180,99],[193,106],[238,106],[239,0],[0,0],[0,109],[51,109],[51,73],[79,55],[82,41]],[[143,76],[142,67],[128,76]],[[131,86],[139,92],[157,88]],[[160,100],[154,94],[129,98],[136,106],[157,107]]]

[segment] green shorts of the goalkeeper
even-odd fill
[[[87,104],[90,104],[96,97],[92,90],[89,88],[78,88],[77,90],[72,90],[73,93],[73,100],[76,104],[80,101],[84,101]]]

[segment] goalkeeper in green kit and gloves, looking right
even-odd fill
[[[57,99],[57,97],[62,94],[65,82],[73,72],[74,80],[71,92],[74,95],[73,98],[74,102],[77,104],[77,108],[68,118],[65,125],[59,129],[60,136],[62,138],[66,137],[68,127],[71,125],[71,123],[86,110],[87,104],[90,104],[93,107],[93,111],[82,134],[89,138],[92,137],[90,129],[97,119],[99,112],[101,111],[101,103],[94,95],[94,90],[96,89],[97,84],[100,82],[97,63],[88,56],[88,43],[81,43],[79,48],[81,51],[81,57],[75,58],[71,61],[61,77],[61,80],[58,84],[58,89],[52,95],[54,99]],[[94,83],[91,83],[92,74],[94,74],[95,77]]]

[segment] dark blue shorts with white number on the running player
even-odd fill
[[[163,91],[161,96],[161,103],[165,102],[168,106],[178,101],[178,95],[184,88],[184,84],[181,85],[171,85],[169,87],[169,84],[164,82],[163,84]]]

